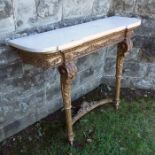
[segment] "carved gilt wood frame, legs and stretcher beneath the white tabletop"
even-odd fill
[[[134,29],[134,28],[133,28]],[[133,29],[128,31],[121,31],[112,33],[105,37],[94,39],[89,42],[85,42],[81,45],[74,46],[69,49],[57,51],[56,53],[49,54],[33,54],[23,51],[18,51],[19,55],[26,63],[34,64],[43,68],[59,66],[60,80],[61,80],[61,92],[64,102],[64,109],[66,115],[67,136],[70,144],[73,144],[73,124],[77,122],[82,116],[97,108],[98,106],[114,103],[116,109],[118,109],[120,101],[120,88],[121,77],[123,70],[124,58],[132,48],[131,37],[133,36]],[[74,64],[74,60],[96,52],[96,49],[105,47],[112,44],[118,44],[117,51],[117,63],[116,63],[116,88],[115,97],[113,99],[105,99],[102,101],[94,102],[93,104],[85,104],[81,106],[77,115],[72,118],[71,111],[71,87],[72,81],[76,77],[77,68]]]

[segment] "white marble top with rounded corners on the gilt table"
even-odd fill
[[[140,19],[113,16],[10,40],[8,43],[10,46],[28,52],[53,53],[113,32],[131,29],[140,24]]]

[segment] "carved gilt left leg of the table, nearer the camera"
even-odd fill
[[[73,62],[63,64],[59,67],[61,92],[64,102],[64,109],[66,115],[67,135],[70,144],[73,144],[74,134],[72,127],[72,111],[71,111],[71,85],[74,80],[77,68]]]

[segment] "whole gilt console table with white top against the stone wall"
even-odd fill
[[[8,42],[10,46],[18,50],[25,63],[46,68],[58,67],[67,135],[71,144],[74,140],[73,124],[87,112],[106,103],[114,103],[118,109],[124,58],[132,48],[133,31],[140,24],[141,20],[136,18],[113,16]],[[77,73],[74,60],[111,44],[118,44],[115,97],[83,107],[84,110],[80,110],[72,118],[71,84]]]

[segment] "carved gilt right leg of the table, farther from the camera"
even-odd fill
[[[118,44],[117,51],[117,62],[116,62],[116,84],[115,84],[115,107],[118,109],[120,103],[120,88],[121,88],[121,79],[122,79],[122,71],[125,56],[132,49],[133,43],[130,38],[125,39],[123,42]]]

